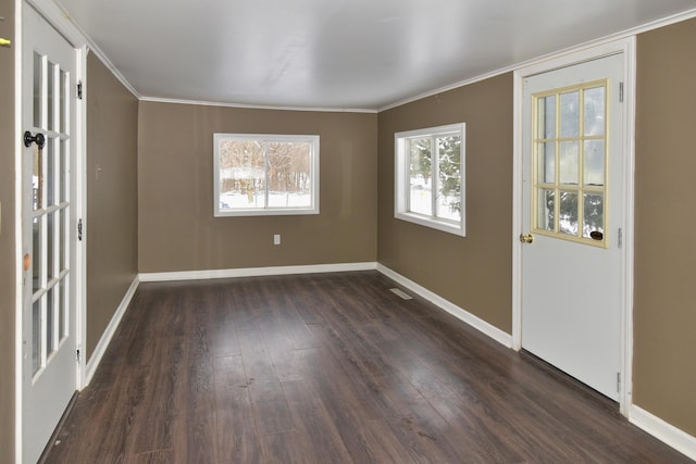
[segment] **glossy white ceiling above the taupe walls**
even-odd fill
[[[696,0],[57,0],[142,98],[376,110]]]

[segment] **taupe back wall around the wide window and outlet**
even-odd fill
[[[213,217],[213,133],[320,135],[321,214]],[[138,152],[141,273],[376,260],[375,114],[142,101]]]

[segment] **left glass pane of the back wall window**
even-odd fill
[[[264,148],[257,140],[220,142],[220,209],[265,208]]]

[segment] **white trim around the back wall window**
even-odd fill
[[[223,140],[259,140],[263,142],[307,142],[312,147],[310,160],[310,205],[287,208],[256,208],[256,209],[221,209],[220,208],[220,142]],[[287,216],[319,214],[320,188],[320,136],[318,135],[284,135],[284,134],[213,134],[213,215],[214,217],[239,216]],[[266,171],[268,175],[268,160]]]

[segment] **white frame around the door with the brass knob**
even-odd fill
[[[513,73],[513,167],[512,167],[512,348],[522,349],[522,153],[523,134],[523,81],[525,77],[601,57],[623,54],[623,170],[624,188],[622,202],[624,205],[624,224],[621,263],[621,385],[619,391],[619,409],[624,416],[629,415],[633,403],[633,237],[634,237],[634,164],[635,164],[635,36],[618,40],[606,40],[593,46],[564,50],[544,57],[524,65]]]

